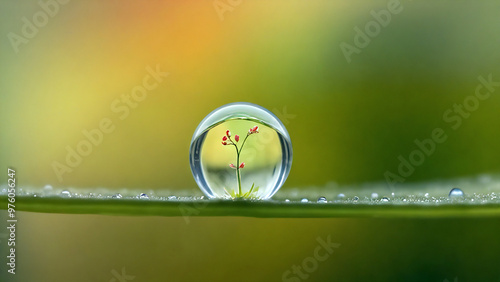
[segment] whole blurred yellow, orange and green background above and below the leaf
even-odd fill
[[[406,182],[499,172],[500,90],[456,130],[443,118],[479,76],[500,81],[498,1],[40,3],[0,4],[0,161],[21,186],[193,189],[192,133],[236,101],[285,123],[283,191],[385,181],[435,128],[447,140]],[[348,62],[341,44],[356,46],[355,28],[366,33],[388,5],[399,12]],[[168,76],[127,102],[148,68]],[[103,120],[113,131],[68,165],[68,148]],[[18,281],[111,281],[122,267],[135,281],[280,281],[328,234],[342,246],[309,281],[500,279],[492,219],[20,219]]]

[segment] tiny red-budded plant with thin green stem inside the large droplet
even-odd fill
[[[247,135],[245,136],[245,139],[243,139],[243,142],[241,142],[241,146],[238,148],[238,142],[240,141],[240,136],[239,135],[234,135],[234,141],[231,138],[231,131],[226,130],[226,135],[222,137],[222,145],[223,146],[234,146],[236,149],[236,165],[234,164],[229,164],[229,167],[231,169],[236,170],[236,179],[237,179],[237,189],[231,189],[231,188],[226,188],[224,187],[224,191],[226,192],[227,196],[230,196],[233,199],[236,198],[243,198],[243,199],[252,199],[256,198],[256,193],[259,191],[259,187],[255,187],[255,183],[252,184],[252,187],[248,189],[248,191],[243,192],[243,189],[241,187],[241,170],[245,167],[245,163],[241,162],[240,163],[240,154],[243,151],[243,147],[245,146],[245,143],[248,139],[248,137],[252,134],[259,133],[259,127],[254,126],[248,130]]]

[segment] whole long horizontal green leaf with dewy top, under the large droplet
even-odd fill
[[[453,187],[465,195],[450,198]],[[1,187],[0,187],[1,188]],[[0,209],[7,209],[6,194],[0,194]],[[138,197],[144,191],[121,189],[18,189],[16,211],[105,214],[123,216],[245,216],[261,218],[327,218],[327,217],[500,217],[500,177],[452,179],[405,184],[388,188],[385,183],[358,186],[327,184],[322,187],[285,189],[271,200],[208,200],[192,190],[146,191],[147,199]],[[253,191],[247,192],[251,197]],[[177,196],[172,196],[177,193]],[[169,195],[169,196],[168,196]],[[245,195],[244,195],[245,196]],[[326,203],[318,203],[326,197]],[[301,200],[307,198],[306,202]],[[304,200],[305,201],[305,200]]]

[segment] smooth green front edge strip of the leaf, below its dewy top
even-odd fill
[[[0,198],[6,202],[5,196]],[[280,201],[72,199],[18,197],[16,211],[127,216],[324,217],[500,217],[500,204],[321,204]],[[2,204],[2,207],[7,205]]]

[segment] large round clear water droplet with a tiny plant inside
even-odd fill
[[[196,183],[209,198],[268,199],[288,177],[292,144],[273,113],[255,104],[232,103],[198,125],[189,161]]]

